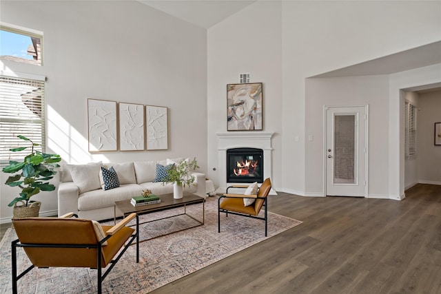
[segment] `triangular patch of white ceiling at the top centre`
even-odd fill
[[[256,2],[244,0],[138,1],[206,29]]]

